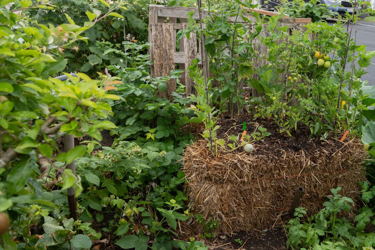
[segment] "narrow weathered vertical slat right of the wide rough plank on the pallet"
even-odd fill
[[[183,29],[187,28],[187,23],[183,24]],[[189,76],[189,66],[191,62],[197,58],[197,45],[196,45],[196,33],[190,33],[189,39],[186,36],[183,38],[184,40],[184,53],[185,53],[185,86],[186,86],[186,96],[189,94],[196,94],[196,90],[194,88],[193,79]]]

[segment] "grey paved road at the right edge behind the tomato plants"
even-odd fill
[[[353,27],[354,31],[354,27]],[[353,32],[352,31],[352,32]],[[353,36],[353,33],[352,33]],[[360,21],[357,25],[357,44],[366,45],[366,50],[375,50],[375,22]],[[362,77],[367,80],[369,85],[375,85],[375,57],[372,58],[372,64],[366,68],[368,73]]]

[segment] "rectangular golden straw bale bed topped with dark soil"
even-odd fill
[[[341,195],[354,200],[353,218],[360,188],[364,181],[362,160],[366,156],[356,138],[341,142],[333,135],[327,141],[308,138],[309,128],[300,124],[292,136],[280,134],[272,121],[257,121],[242,116],[219,119],[217,137],[228,141],[229,135],[242,132],[246,121],[249,133],[258,125],[272,133],[264,141],[254,143],[248,154],[242,147],[237,151],[218,150],[216,157],[207,147],[207,141],[196,141],[184,152],[184,172],[193,211],[206,220],[219,221],[216,232],[270,228],[280,223],[287,213],[298,187],[305,193],[300,206],[309,213],[323,208],[330,189],[342,187]],[[236,125],[241,125],[234,127]],[[194,225],[201,229],[201,225]]]

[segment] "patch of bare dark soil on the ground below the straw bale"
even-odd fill
[[[226,243],[228,241],[230,244]],[[287,236],[282,227],[259,233],[240,231],[232,237],[226,236],[226,239],[223,239],[222,242],[216,243],[215,249],[286,250],[286,241]],[[220,246],[223,244],[225,245]]]

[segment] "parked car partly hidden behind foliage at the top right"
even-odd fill
[[[308,1],[305,0],[305,2]],[[331,12],[337,12],[340,15],[345,15],[345,11],[353,13],[353,5],[350,1],[320,0],[320,2],[326,4]],[[259,4],[261,9],[275,11],[275,7],[280,5],[280,0],[260,0]]]

